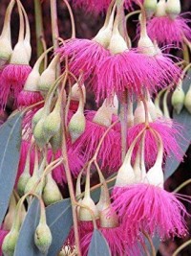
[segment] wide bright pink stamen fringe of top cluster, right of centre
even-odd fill
[[[145,88],[157,92],[159,88],[177,81],[180,72],[170,58],[161,54],[151,57],[138,53],[138,50],[130,50],[104,58],[97,71],[97,101],[126,89],[131,95],[141,95]]]

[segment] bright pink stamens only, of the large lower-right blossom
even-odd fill
[[[141,183],[116,187],[113,207],[132,241],[137,240],[141,230],[151,236],[157,234],[162,240],[184,237],[188,232],[184,220],[188,213],[176,197],[180,195]]]

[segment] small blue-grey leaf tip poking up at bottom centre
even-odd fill
[[[88,256],[111,256],[109,245],[100,231],[95,229],[91,244],[88,251]]]

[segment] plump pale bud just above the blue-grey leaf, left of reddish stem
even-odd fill
[[[47,181],[43,190],[42,198],[45,205],[50,205],[62,199],[62,195],[57,184],[53,180],[52,174],[47,175]]]

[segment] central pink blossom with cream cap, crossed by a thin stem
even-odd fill
[[[106,101],[96,112],[93,112],[87,113],[86,129],[74,145],[84,151],[86,161],[93,157],[104,132],[113,124],[113,107],[107,105]],[[101,162],[101,169],[109,171],[115,170],[120,165],[120,133],[117,126],[111,128],[105,136],[97,160]]]

